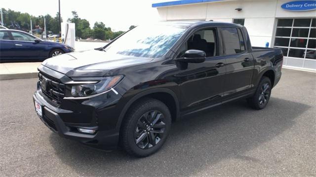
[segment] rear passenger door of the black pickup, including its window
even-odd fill
[[[241,29],[221,27],[223,53],[226,57],[225,99],[242,95],[250,88],[253,74],[253,57],[246,50]]]

